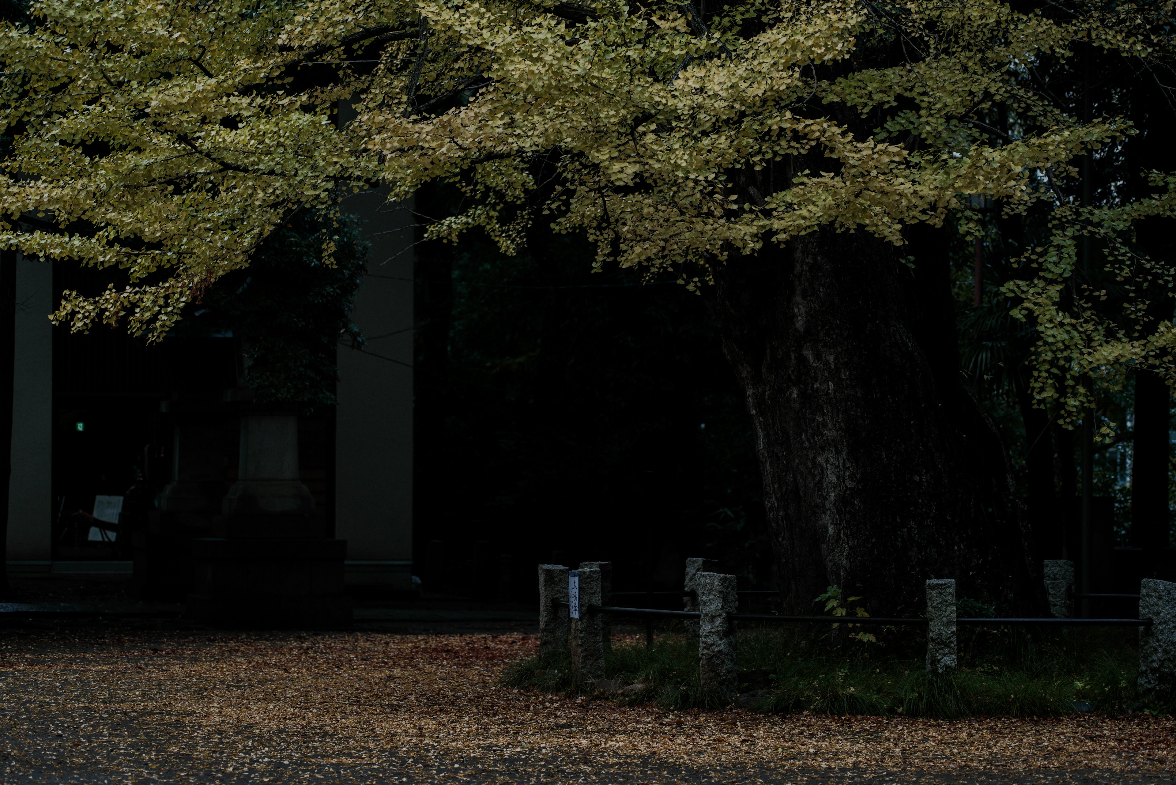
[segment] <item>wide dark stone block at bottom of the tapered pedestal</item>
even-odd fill
[[[201,538],[193,540],[188,616],[235,627],[346,627],[346,540]]]

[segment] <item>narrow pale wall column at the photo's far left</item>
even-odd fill
[[[53,266],[16,262],[8,559],[48,561],[53,527]]]

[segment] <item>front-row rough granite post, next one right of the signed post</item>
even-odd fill
[[[699,572],[699,677],[708,701],[729,704],[739,688],[735,666],[735,623],[727,618],[739,608],[735,576]]]

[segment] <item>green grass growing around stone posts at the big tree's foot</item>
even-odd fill
[[[737,703],[753,711],[960,718],[1004,714],[1051,717],[1076,712],[1171,713],[1174,701],[1147,704],[1135,693],[1138,653],[1121,630],[962,628],[960,668],[928,679],[926,641],[911,631],[884,630],[876,643],[828,628],[763,627],[740,632]],[[681,633],[659,636],[649,650],[614,640],[606,677],[643,684],[621,703],[654,703],[667,710],[717,707],[699,683],[699,646]],[[577,684],[564,656],[514,663],[509,686],[562,694],[592,694]]]

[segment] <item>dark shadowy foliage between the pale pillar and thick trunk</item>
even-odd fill
[[[646,588],[716,554],[771,583],[750,420],[703,298],[594,274],[593,246],[544,227],[519,258],[479,235],[417,251],[417,561],[510,554],[526,584],[536,561],[607,559]]]

